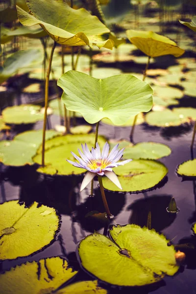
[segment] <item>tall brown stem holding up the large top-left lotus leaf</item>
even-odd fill
[[[45,111],[44,111],[44,126],[43,126],[43,136],[42,136],[42,166],[45,166],[45,140],[46,140],[46,125],[47,125],[47,109],[48,109],[48,103],[49,103],[49,74],[51,71],[51,63],[52,63],[52,57],[54,53],[54,49],[56,47],[56,42],[53,43],[51,53],[49,56],[49,66],[47,70],[46,75],[46,83],[45,83]]]

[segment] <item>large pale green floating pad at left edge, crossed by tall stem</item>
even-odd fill
[[[17,135],[12,141],[0,141],[0,162],[7,166],[31,165],[32,157],[42,143],[42,130],[27,131]],[[54,130],[46,131],[46,140],[58,133]]]

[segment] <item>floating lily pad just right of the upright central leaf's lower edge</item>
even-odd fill
[[[149,125],[162,127],[177,126],[187,122],[187,119],[180,118],[177,113],[169,109],[163,110],[161,112],[151,111],[150,113],[147,113],[145,120]]]

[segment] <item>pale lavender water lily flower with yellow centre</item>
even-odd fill
[[[74,167],[86,169],[88,171],[82,181],[80,192],[93,180],[96,175],[106,175],[118,188],[123,190],[119,179],[116,173],[112,171],[112,168],[124,165],[132,160],[127,159],[118,162],[123,157],[124,148],[118,148],[119,144],[117,144],[109,153],[109,144],[106,142],[101,152],[98,143],[96,143],[96,148],[92,148],[90,152],[86,144],[84,146],[83,144],[81,145],[83,153],[80,149],[78,149],[81,158],[71,152],[78,162],[67,160]]]

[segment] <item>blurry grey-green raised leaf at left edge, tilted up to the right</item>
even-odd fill
[[[16,73],[20,68],[28,67],[32,62],[40,58],[39,49],[27,49],[11,54],[0,68],[0,84]]]

